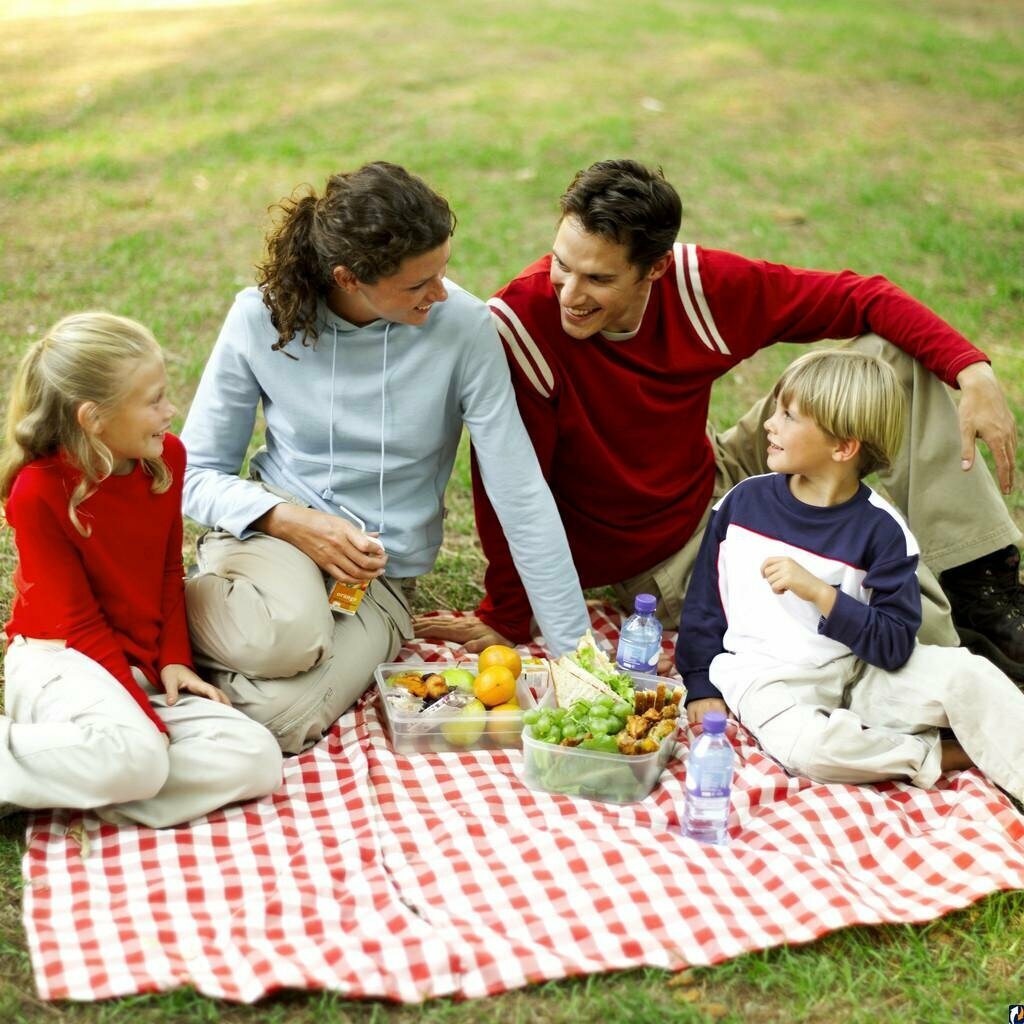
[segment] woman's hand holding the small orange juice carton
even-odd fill
[[[364,534],[341,516],[282,502],[264,512],[253,527],[295,545],[342,583],[362,583],[384,574],[387,555],[372,540],[376,535]]]

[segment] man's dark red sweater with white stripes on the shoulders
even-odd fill
[[[711,499],[712,384],[776,341],[876,332],[954,385],[986,359],[885,278],[801,270],[677,244],[635,335],[579,341],[561,329],[551,257],[489,302],[516,399],[565,524],[580,582],[645,571],[693,535]],[[487,557],[479,616],[512,640],[530,609],[479,474],[476,524]]]

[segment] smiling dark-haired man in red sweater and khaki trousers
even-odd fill
[[[1024,678],[1021,535],[975,450],[981,437],[1009,493],[1016,430],[985,354],[882,276],[677,243],[678,195],[634,161],[580,172],[561,212],[552,252],[489,305],[583,586],[613,585],[624,601],[652,592],[674,627],[711,504],[767,472],[771,397],[717,433],[712,384],[776,341],[860,336],[852,344],[891,362],[909,392],[904,452],[883,483],[927,564],[920,636],[963,640]],[[944,385],[961,389],[958,409]],[[475,467],[473,484],[486,594],[476,615],[417,629],[479,650],[528,639],[530,609]]]

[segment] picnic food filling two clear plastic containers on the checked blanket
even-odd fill
[[[475,667],[382,665],[377,679],[395,753],[521,745],[536,788],[641,800],[676,749],[682,689],[624,672],[590,631],[553,660],[495,644]]]

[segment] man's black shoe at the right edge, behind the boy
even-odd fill
[[[942,573],[961,642],[1011,679],[1024,682],[1024,588],[1020,552],[1010,545]]]

